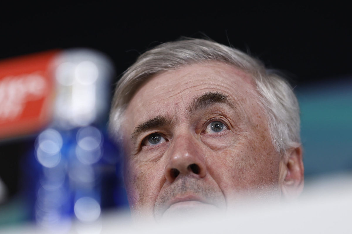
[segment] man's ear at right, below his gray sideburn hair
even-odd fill
[[[281,191],[288,200],[297,198],[304,185],[302,147],[290,148],[281,159]]]

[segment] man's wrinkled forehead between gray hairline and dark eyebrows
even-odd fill
[[[226,94],[241,106],[256,100],[251,75],[222,62],[209,62],[187,65],[149,78],[132,97],[125,116],[127,122],[134,125],[157,115],[176,114],[195,97],[207,92]]]

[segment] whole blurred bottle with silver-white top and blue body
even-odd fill
[[[44,228],[69,230],[94,222],[101,210],[127,207],[120,150],[106,134],[112,66],[91,50],[55,58],[54,118],[25,158],[25,196],[31,219]]]

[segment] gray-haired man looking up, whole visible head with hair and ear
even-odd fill
[[[292,88],[225,45],[184,39],[140,55],[117,84],[109,126],[124,147],[135,217],[214,212],[303,188]]]

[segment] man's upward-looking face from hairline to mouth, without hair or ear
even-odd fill
[[[122,133],[134,215],[221,210],[268,190],[280,197],[281,157],[252,78],[230,65],[151,77],[130,101]]]

